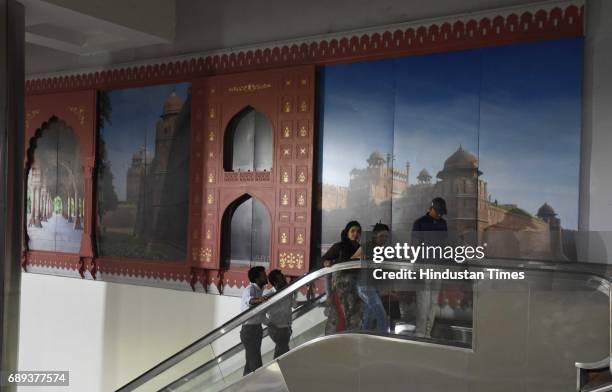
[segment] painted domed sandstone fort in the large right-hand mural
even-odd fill
[[[552,207],[544,203],[534,216],[519,206],[491,201],[478,159],[463,147],[445,160],[435,182],[422,169],[417,183],[410,184],[410,165],[394,170],[389,159],[373,152],[367,167],[350,172],[348,187],[323,185],[323,250],[352,219],[364,231],[377,222],[390,223],[394,242],[410,242],[413,222],[434,197],[442,197],[448,206],[449,241],[456,245],[486,242],[489,257],[567,259],[561,222]]]

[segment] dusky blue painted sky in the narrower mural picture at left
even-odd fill
[[[111,124],[101,130],[111,162],[115,192],[126,198],[126,174],[134,152],[144,147],[150,158],[155,153],[155,127],[163,113],[164,102],[174,91],[187,100],[189,83],[166,84],[109,91]]]

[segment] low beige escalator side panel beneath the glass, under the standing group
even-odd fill
[[[279,358],[291,392],[468,392],[471,350],[364,334],[335,335]]]

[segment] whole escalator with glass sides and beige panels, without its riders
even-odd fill
[[[469,268],[479,271],[491,266],[481,262]],[[471,297],[464,304],[473,303],[473,309],[463,313],[458,309],[454,317],[449,317],[444,309],[455,297],[440,294],[431,336],[415,334],[414,315],[406,318],[397,310],[398,301],[405,302],[409,292],[428,289],[406,283],[387,283],[388,289],[377,287],[389,318],[386,332],[373,327],[326,333],[329,312],[325,280],[331,274],[374,267],[355,261],[324,268],[236,316],[118,391],[380,392],[406,390],[406,383],[412,385],[411,392],[575,391],[576,362],[609,356],[609,281],[580,271],[580,267],[570,271],[565,266],[542,263],[493,266],[526,271],[526,281],[445,282],[442,292],[449,292],[449,287],[469,292]],[[397,271],[406,265],[383,263],[382,267]],[[264,328],[263,367],[243,376],[242,325],[253,317],[261,318],[290,296],[297,299],[292,313],[291,350],[274,359],[274,343]],[[565,309],[561,315],[558,306]],[[542,331],[540,326],[549,329]],[[531,366],[524,365],[525,358],[527,362],[531,359]],[[540,376],[554,381],[540,383]]]

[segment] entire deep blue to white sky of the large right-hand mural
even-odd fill
[[[348,185],[374,150],[435,178],[462,145],[493,200],[576,228],[582,40],[563,39],[325,67],[323,182]]]

